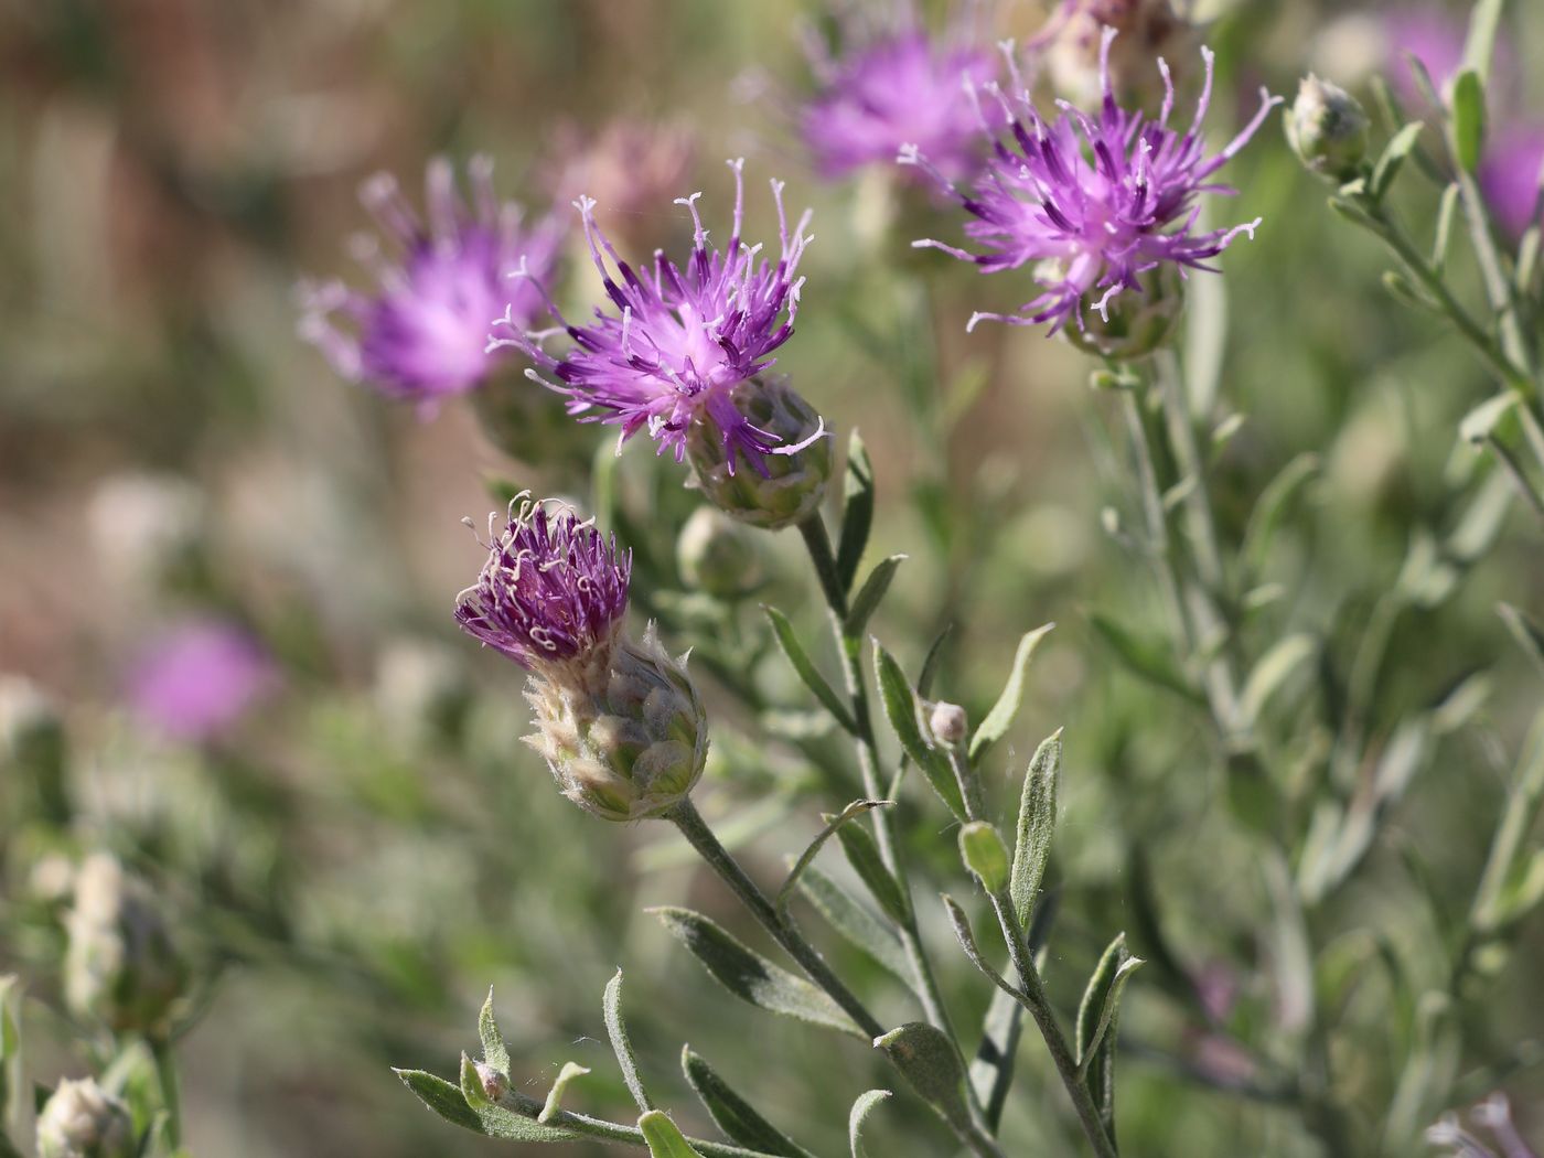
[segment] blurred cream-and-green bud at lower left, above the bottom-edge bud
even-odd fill
[[[165,1033],[187,970],[147,891],[116,857],[94,852],[80,865],[65,926],[69,1008],[114,1031]]]

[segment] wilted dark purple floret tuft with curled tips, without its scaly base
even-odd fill
[[[488,562],[455,598],[455,622],[527,670],[551,670],[610,652],[627,611],[633,554],[591,520],[520,494],[503,534],[488,517]],[[469,522],[469,520],[468,520]]]

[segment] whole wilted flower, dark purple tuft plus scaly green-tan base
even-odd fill
[[[474,587],[455,601],[472,638],[520,664],[562,794],[604,820],[641,820],[686,800],[707,760],[707,716],[686,661],[653,625],[622,630],[631,556],[571,511],[519,496]]]

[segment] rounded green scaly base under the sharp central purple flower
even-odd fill
[[[808,519],[831,479],[831,440],[820,415],[784,380],[752,378],[729,395],[738,417],[772,445],[747,455],[716,422],[695,422],[687,454],[703,494],[743,523],[778,531]]]

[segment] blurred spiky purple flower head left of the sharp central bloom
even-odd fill
[[[519,205],[497,201],[488,157],[474,157],[466,168],[471,207],[455,191],[449,162],[429,164],[428,225],[392,176],[366,181],[360,199],[400,247],[398,259],[384,256],[377,238],[361,236],[355,250],[375,273],[374,293],[341,281],[303,287],[301,337],[343,377],[414,400],[428,412],[446,395],[482,383],[494,367],[499,355],[488,349],[494,318],[530,321],[540,312],[542,295],[510,275],[523,262],[551,276],[562,241],[553,219],[528,227]]]

